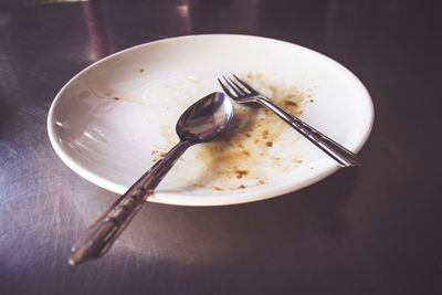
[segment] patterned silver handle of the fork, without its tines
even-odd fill
[[[332,140],[330,138],[319,133],[312,126],[308,126],[303,120],[288,114],[281,107],[267,101],[266,98],[256,97],[256,102],[271,109],[277,116],[280,116],[290,126],[292,126],[303,136],[305,136],[308,140],[315,144],[318,148],[324,150],[328,156],[335,159],[340,166],[343,167],[360,166],[360,159],[358,158],[357,155],[352,154],[338,143]]]

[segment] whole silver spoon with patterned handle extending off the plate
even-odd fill
[[[180,141],[80,236],[71,249],[70,264],[80,264],[105,254],[178,158],[192,145],[210,141],[222,134],[232,118],[232,103],[219,92],[191,105],[177,123]]]

